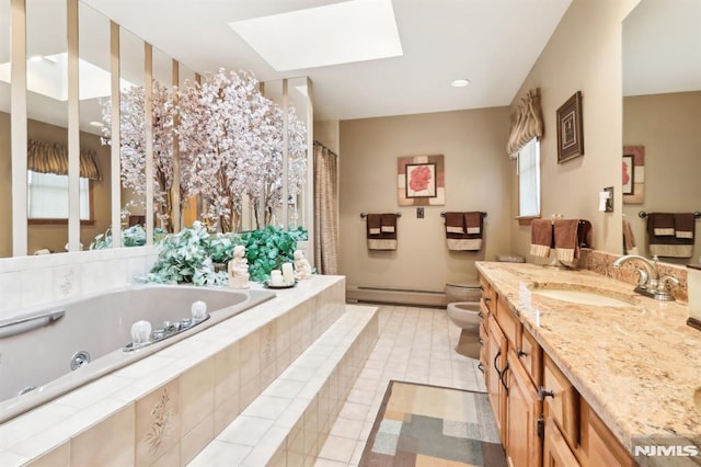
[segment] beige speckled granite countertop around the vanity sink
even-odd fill
[[[686,304],[634,294],[633,285],[590,271],[496,262],[476,267],[631,453],[641,436],[676,435],[700,445],[701,332],[686,324]],[[528,288],[533,282],[594,287],[631,305],[547,298]]]

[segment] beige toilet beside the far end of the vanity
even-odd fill
[[[524,263],[525,258],[518,255],[496,257],[497,262]],[[479,284],[446,284],[445,287],[448,306],[446,312],[448,318],[457,327],[462,329],[460,333],[460,342],[456,346],[456,352],[471,358],[480,357],[480,298],[482,297],[482,288]]]

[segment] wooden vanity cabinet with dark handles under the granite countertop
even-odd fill
[[[480,360],[509,465],[635,466],[506,299],[483,277],[480,284]]]

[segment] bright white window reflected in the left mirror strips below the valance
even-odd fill
[[[68,219],[68,175],[27,170],[30,219]],[[90,180],[80,178],[80,220],[91,220]]]

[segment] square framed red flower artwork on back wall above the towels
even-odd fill
[[[446,203],[443,156],[400,157],[397,172],[400,206],[441,206]]]

